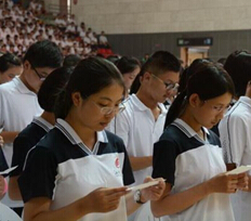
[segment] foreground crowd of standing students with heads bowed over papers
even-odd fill
[[[90,38],[64,20],[56,31]],[[0,205],[25,221],[138,221],[142,208],[162,221],[250,220],[251,173],[228,173],[251,165],[250,52],[183,69],[168,51],[87,57],[40,37],[23,60],[0,56],[0,171],[13,169]]]

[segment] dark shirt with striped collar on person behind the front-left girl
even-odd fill
[[[18,166],[10,173],[10,177],[19,176],[24,169],[27,153],[53,128],[42,117],[36,117],[21,133],[13,143],[12,167]]]

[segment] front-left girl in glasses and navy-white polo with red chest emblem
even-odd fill
[[[123,142],[104,129],[124,93],[121,74],[110,62],[82,60],[58,98],[57,122],[29,153],[18,179],[24,220],[127,220],[163,193],[163,181],[126,195],[134,182]],[[153,180],[148,178],[147,180]]]

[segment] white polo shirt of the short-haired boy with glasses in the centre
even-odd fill
[[[123,104],[126,109],[115,117],[108,130],[123,140],[129,156],[153,156],[154,143],[163,132],[167,108],[159,104],[161,114],[155,120],[151,110],[135,94],[129,96]],[[143,183],[151,172],[153,167],[134,171],[135,184]]]

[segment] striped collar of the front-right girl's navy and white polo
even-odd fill
[[[176,126],[177,128],[180,128],[186,135],[187,138],[193,138],[195,136],[197,140],[202,141],[204,143],[204,140],[202,140],[198,133],[190,127],[188,126],[184,120],[182,120],[181,118],[176,118],[172,125]],[[202,127],[202,130],[207,133],[207,136],[210,134],[209,130],[204,127]],[[207,138],[206,138],[207,141]]]

